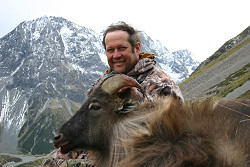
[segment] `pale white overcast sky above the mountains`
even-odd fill
[[[125,21],[203,61],[250,23],[249,0],[0,0],[0,38],[23,21],[63,17],[99,33]]]

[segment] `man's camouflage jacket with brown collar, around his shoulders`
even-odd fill
[[[179,100],[180,104],[182,104],[184,99],[178,85],[168,74],[156,67],[155,64],[155,56],[153,54],[142,52],[140,54],[139,62],[136,64],[134,69],[126,75],[137,80],[144,91],[146,99],[154,101],[156,96],[171,94]],[[111,74],[114,74],[114,72],[110,69],[107,70],[106,73],[101,76],[88,91],[88,95],[90,95],[99,86],[99,84]],[[153,91],[150,91],[150,94],[147,93],[149,88],[154,89]]]

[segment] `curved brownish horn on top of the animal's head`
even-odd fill
[[[135,79],[124,74],[111,75],[102,82],[101,87],[109,94],[113,94],[123,87],[136,87],[141,89],[140,84]]]

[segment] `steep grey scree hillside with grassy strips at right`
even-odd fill
[[[250,98],[250,27],[227,41],[180,84],[186,100]]]

